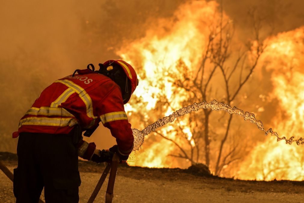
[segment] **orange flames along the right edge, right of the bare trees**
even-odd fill
[[[304,132],[304,27],[266,40],[263,55],[272,72],[271,93],[279,101],[278,115],[272,120],[282,136],[303,136]],[[268,137],[259,143],[241,163],[236,177],[257,180],[304,180],[302,146],[274,142]]]

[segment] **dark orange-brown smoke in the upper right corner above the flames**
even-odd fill
[[[304,25],[301,0],[217,0],[223,3],[223,10],[236,24],[236,29],[241,32],[240,39],[247,40],[252,35],[252,19],[248,12],[255,12],[262,21],[262,37],[275,35],[279,32],[294,30]]]

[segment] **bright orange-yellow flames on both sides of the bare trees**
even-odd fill
[[[182,59],[187,67],[199,66],[202,50],[206,48],[208,41],[209,27],[220,18],[217,7],[216,2],[204,1],[182,5],[176,11],[174,19],[158,20],[159,26],[156,29],[148,30],[144,38],[117,52],[123,60],[136,67],[139,73],[140,85],[134,93],[137,103],[131,101],[126,105],[131,123],[135,124],[133,127],[143,129],[143,122],[151,123],[183,107],[183,101],[187,100],[189,93],[174,86],[174,77],[184,73],[176,68],[177,64]],[[223,18],[228,18],[225,13]],[[301,136],[304,128],[304,68],[301,68],[304,65],[303,31],[304,27],[266,39],[264,42],[267,48],[257,67],[257,73],[262,72],[264,67],[267,72],[271,72],[273,90],[269,92],[267,101],[278,100],[280,107],[277,113],[273,114],[271,127],[286,137]],[[187,74],[192,76],[192,72]],[[269,82],[268,78],[264,80]],[[260,97],[265,100],[266,96]],[[247,95],[244,96],[244,99],[246,98]],[[163,115],[157,117],[153,114],[153,109],[157,107],[159,100],[167,101],[170,105],[164,109]],[[264,107],[257,106],[257,112],[263,111]],[[136,117],[138,112],[145,116]],[[263,118],[259,120],[263,121]],[[178,124],[170,123],[161,128],[161,133],[179,142],[172,129],[182,127],[187,140],[195,146],[191,126],[186,115],[180,118]],[[176,150],[172,142],[155,135],[148,135],[148,138],[143,149],[131,155],[128,162],[130,165],[181,168],[190,166],[188,160],[168,156]],[[265,142],[257,143],[250,154],[243,157],[242,162],[231,166],[234,167],[231,168],[234,172],[228,176],[257,180],[304,180],[303,150],[302,146],[277,143],[273,137],[267,137]],[[227,170],[229,167],[226,165],[223,169]],[[227,176],[224,172],[223,175]]]

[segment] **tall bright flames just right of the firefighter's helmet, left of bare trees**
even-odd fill
[[[219,18],[216,13],[216,2],[197,1],[185,4],[175,12],[173,22],[166,19],[158,21],[157,30],[148,30],[146,37],[135,41],[127,47],[121,49],[118,54],[123,60],[129,61],[139,72],[140,85],[134,94],[144,103],[126,105],[126,110],[130,112],[144,111],[146,117],[143,121],[148,121],[148,116],[156,106],[158,98],[156,95],[162,94],[164,100],[170,102],[170,107],[164,112],[164,116],[171,114],[182,106],[182,101],[187,100],[187,93],[182,89],[176,89],[173,85],[171,75],[180,74],[176,69],[179,60],[182,59],[188,67],[197,67],[200,62],[200,54],[209,34],[209,26],[215,18]],[[164,29],[170,27],[170,31]],[[190,74],[190,73],[189,73]],[[178,91],[178,94],[176,92]],[[153,118],[153,117],[152,117]],[[157,117],[154,118],[156,120]],[[154,121],[152,119],[152,121]],[[189,130],[187,117],[182,118],[181,125],[184,133],[192,145],[192,134]],[[175,124],[176,125],[176,124]],[[137,126],[135,126],[137,127]],[[162,133],[168,138],[175,138],[170,129],[175,128],[174,124],[167,124],[162,128]],[[141,126],[143,128],[143,126]],[[140,129],[140,128],[139,128]],[[145,147],[144,153],[137,153],[133,156],[135,160],[130,160],[130,165],[148,167],[188,167],[189,163],[180,163],[180,160],[167,159],[175,149],[172,143],[160,140]],[[132,156],[131,156],[132,158]]]

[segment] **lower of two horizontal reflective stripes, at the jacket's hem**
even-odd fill
[[[73,126],[77,124],[74,118],[48,118],[48,117],[27,117],[19,122],[19,128],[22,125],[46,125],[46,126]]]

